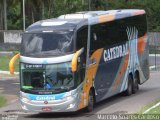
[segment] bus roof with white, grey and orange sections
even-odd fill
[[[82,11],[73,14],[61,15],[58,18],[38,21],[29,26],[26,31],[54,31],[73,30],[78,25],[92,25],[145,14],[141,9],[122,9],[108,11]]]

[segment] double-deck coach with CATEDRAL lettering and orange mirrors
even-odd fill
[[[92,111],[149,79],[146,12],[85,11],[38,21],[22,34],[20,102],[29,112]]]

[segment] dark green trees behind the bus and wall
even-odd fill
[[[7,0],[8,28],[22,29],[22,0]],[[78,11],[145,9],[149,31],[160,31],[160,0],[25,0],[26,26],[42,19]],[[89,4],[90,3],[90,4]],[[2,4],[2,0],[0,1]]]

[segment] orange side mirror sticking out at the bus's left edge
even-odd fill
[[[14,74],[14,64],[16,62],[16,60],[20,57],[20,54],[16,54],[15,56],[12,57],[12,59],[9,62],[9,71],[10,74]]]

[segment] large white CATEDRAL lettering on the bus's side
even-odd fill
[[[109,48],[107,50],[104,50],[103,57],[104,62],[123,57],[128,54],[128,44],[123,44],[119,46],[115,46],[112,48]]]

